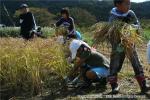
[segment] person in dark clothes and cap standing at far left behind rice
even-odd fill
[[[19,16],[20,19],[20,35],[24,39],[31,39],[33,38],[33,32],[32,30],[35,30],[36,23],[33,14],[29,11],[27,4],[22,4],[20,6],[21,14]]]

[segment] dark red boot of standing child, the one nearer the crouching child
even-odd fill
[[[109,77],[108,81],[111,84],[111,88],[112,88],[111,94],[118,94],[120,86],[117,84],[117,76]]]

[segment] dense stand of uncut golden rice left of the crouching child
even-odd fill
[[[62,49],[52,39],[0,38],[0,90],[38,94],[50,72],[66,75],[68,64]]]

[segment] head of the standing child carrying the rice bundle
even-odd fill
[[[130,0],[114,0],[114,5],[123,13],[126,13],[130,9]]]

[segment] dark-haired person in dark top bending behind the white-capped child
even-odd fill
[[[76,38],[81,39],[81,34],[76,31],[74,20],[70,17],[69,10],[67,8],[63,8],[61,10],[61,18],[56,22],[56,27],[64,26],[68,29],[68,38]]]

